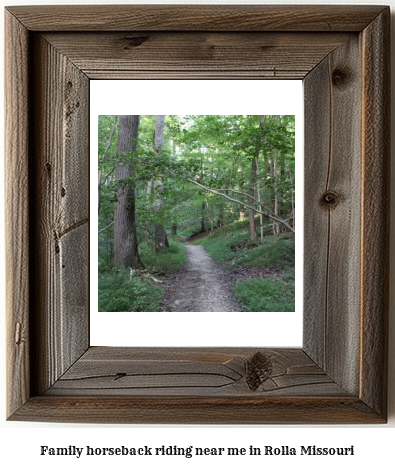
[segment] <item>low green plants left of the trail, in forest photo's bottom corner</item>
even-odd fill
[[[137,276],[129,269],[99,274],[99,312],[157,312],[164,288]]]

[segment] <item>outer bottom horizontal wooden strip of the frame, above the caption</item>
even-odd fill
[[[12,420],[145,424],[364,424],[384,420],[347,397],[34,397]]]

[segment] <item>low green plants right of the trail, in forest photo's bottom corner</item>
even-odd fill
[[[248,279],[238,282],[234,293],[247,312],[295,311],[295,284],[289,279]]]

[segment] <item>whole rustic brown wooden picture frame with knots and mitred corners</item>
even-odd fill
[[[386,422],[389,8],[5,17],[8,419]],[[301,349],[90,347],[89,82],[119,78],[304,80]]]

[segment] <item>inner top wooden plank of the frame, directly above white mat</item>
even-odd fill
[[[107,77],[116,74],[125,79],[142,72],[167,76],[176,72],[184,77],[204,74],[208,78],[211,73],[246,76],[247,70],[258,77],[302,79],[348,36],[185,32],[44,35],[90,78],[101,78],[107,73]]]

